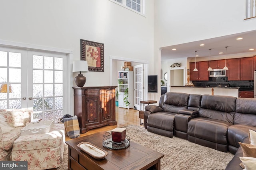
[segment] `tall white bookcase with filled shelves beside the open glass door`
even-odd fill
[[[134,80],[133,71],[118,71],[118,107],[133,108],[134,107]],[[126,96],[128,90],[128,96]],[[130,104],[126,104],[124,98]]]

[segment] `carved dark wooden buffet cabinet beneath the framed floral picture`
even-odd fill
[[[116,125],[116,86],[72,88],[74,115],[78,117],[80,133],[105,125]]]

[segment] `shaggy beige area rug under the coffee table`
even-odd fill
[[[164,154],[162,170],[224,170],[234,157],[229,152],[220,152],[177,137],[169,138],[148,132],[144,127],[128,125],[126,135],[131,141]],[[58,170],[68,169],[68,149]]]

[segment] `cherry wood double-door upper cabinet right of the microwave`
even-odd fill
[[[254,80],[254,57],[228,59],[228,80]]]

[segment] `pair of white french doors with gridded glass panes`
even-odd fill
[[[0,47],[0,109],[33,107],[34,119],[66,112],[66,55]]]

